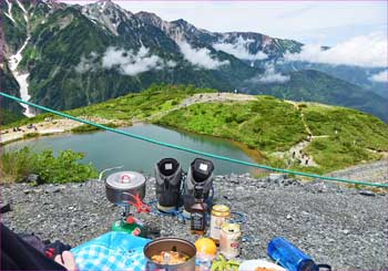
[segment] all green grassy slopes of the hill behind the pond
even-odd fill
[[[182,128],[200,134],[214,135],[241,142],[268,155],[275,166],[284,166],[270,156],[274,152],[286,152],[306,137],[300,112],[287,102],[272,96],[257,96],[257,101],[193,104],[165,115],[155,115],[176,106],[191,94],[213,92],[193,86],[153,85],[139,94],[127,94],[104,103],[68,112],[74,116],[96,116],[108,119],[134,121],[153,116],[161,125]],[[314,156],[319,168],[303,168],[314,173],[326,173],[363,160],[380,157],[372,150],[388,150],[388,126],[377,117],[355,110],[303,104],[299,106],[305,122],[315,138],[305,149]],[[9,126],[42,121],[47,114],[22,119]],[[337,131],[337,134],[335,133]],[[297,166],[294,166],[298,169]]]

